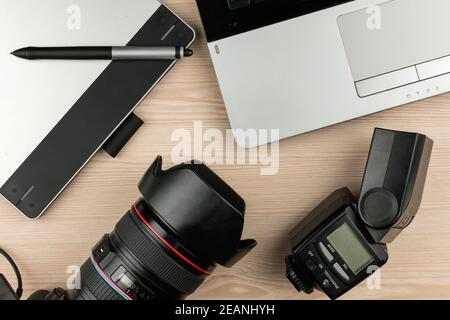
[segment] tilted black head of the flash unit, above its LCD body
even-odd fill
[[[392,242],[413,220],[432,148],[422,134],[375,129],[358,203],[375,242]]]

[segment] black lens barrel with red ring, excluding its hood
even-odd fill
[[[213,269],[212,261],[185,248],[140,200],[82,266],[79,298],[181,299],[193,293]]]

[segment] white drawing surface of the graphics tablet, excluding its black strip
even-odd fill
[[[26,61],[26,46],[125,45],[157,0],[0,0],[0,186],[109,61]]]

